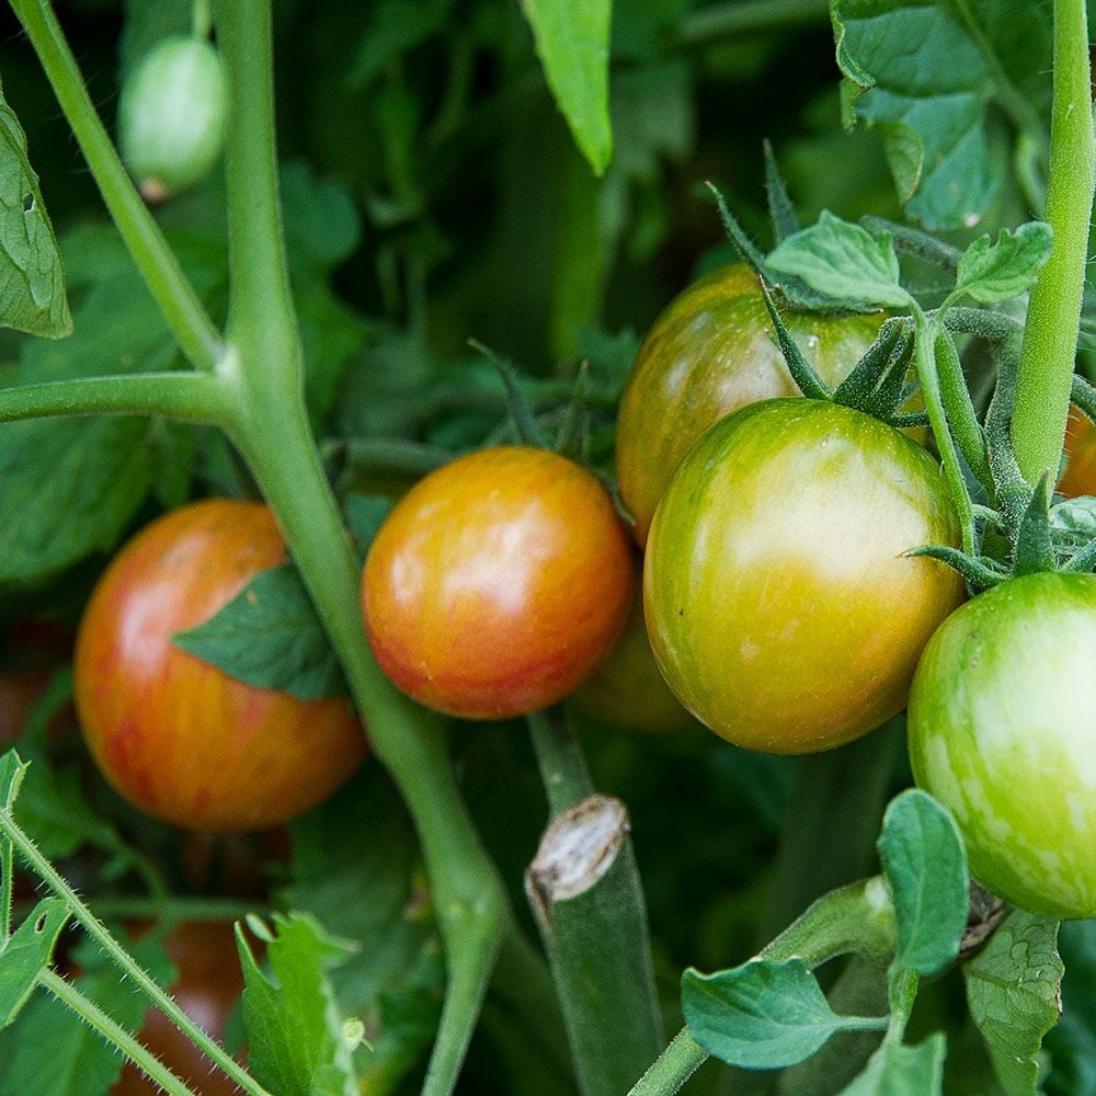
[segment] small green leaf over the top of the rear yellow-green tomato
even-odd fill
[[[830,297],[892,308],[910,304],[910,295],[899,285],[898,255],[890,236],[884,232],[877,240],[827,209],[817,225],[779,243],[766,265],[802,278]]]

